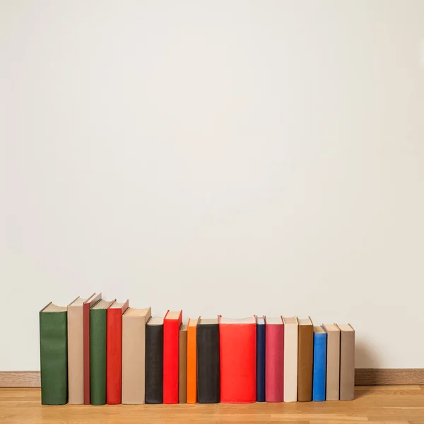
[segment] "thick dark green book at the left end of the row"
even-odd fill
[[[41,404],[68,403],[68,312],[49,303],[40,311]]]

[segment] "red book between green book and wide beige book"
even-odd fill
[[[122,314],[128,309],[129,301],[113,302],[107,309],[106,324],[106,403],[121,403],[122,377]]]

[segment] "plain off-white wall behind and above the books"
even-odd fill
[[[420,0],[1,0],[0,370],[95,290],[423,367],[423,39]]]

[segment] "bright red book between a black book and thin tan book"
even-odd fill
[[[178,404],[179,327],[182,311],[168,311],[163,320],[163,403]]]

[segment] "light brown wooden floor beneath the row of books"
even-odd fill
[[[0,389],[1,424],[424,424],[424,386],[356,387],[355,401],[307,404],[42,406],[40,389]]]

